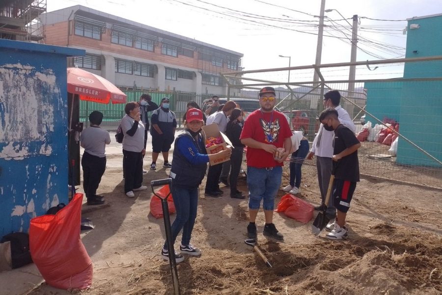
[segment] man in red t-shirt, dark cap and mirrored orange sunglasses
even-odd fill
[[[247,185],[249,187],[249,225],[247,235],[256,238],[256,215],[261,200],[266,219],[263,235],[282,240],[273,224],[276,192],[281,185],[282,166],[292,148],[292,132],[287,119],[274,110],[275,89],[259,91],[261,108],[247,117],[241,143],[247,146]]]

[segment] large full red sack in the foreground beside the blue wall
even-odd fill
[[[93,266],[80,237],[83,194],[55,215],[32,218],[29,249],[46,282],[59,289],[87,289],[92,285]]]

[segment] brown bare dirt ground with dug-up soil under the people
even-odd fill
[[[315,169],[303,166],[298,197],[318,205]],[[166,172],[148,171],[144,184],[165,178]],[[282,185],[287,183],[285,167]],[[244,181],[239,184],[247,191]],[[361,179],[348,213],[346,241],[330,241],[325,233],[315,237],[313,220],[302,224],[279,213],[274,222],[285,240],[268,240],[262,236],[260,212],[258,243],[273,265],[267,268],[244,243],[247,199],[231,199],[228,188],[221,189],[222,198],[204,197],[201,186],[192,243],[203,254],[178,265],[181,294],[442,294],[441,190]],[[163,219],[149,214],[151,191],[127,198],[121,169],[108,168],[99,193],[107,206],[83,213],[96,226],[82,234],[94,264],[93,285],[83,293],[173,294],[169,264],[160,257]],[[277,201],[281,196],[279,191]],[[180,236],[175,246],[179,241]],[[29,294],[65,292],[42,284]]]

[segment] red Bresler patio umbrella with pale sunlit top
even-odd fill
[[[124,94],[105,78],[77,67],[67,68],[67,91],[78,94],[81,100],[100,103],[126,103]]]

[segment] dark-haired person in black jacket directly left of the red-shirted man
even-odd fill
[[[232,156],[230,158],[230,197],[234,199],[244,199],[244,195],[237,189],[238,175],[243,162],[244,145],[241,143],[240,135],[243,131],[243,112],[240,109],[234,109],[227,122],[225,131],[227,137],[232,142]]]

